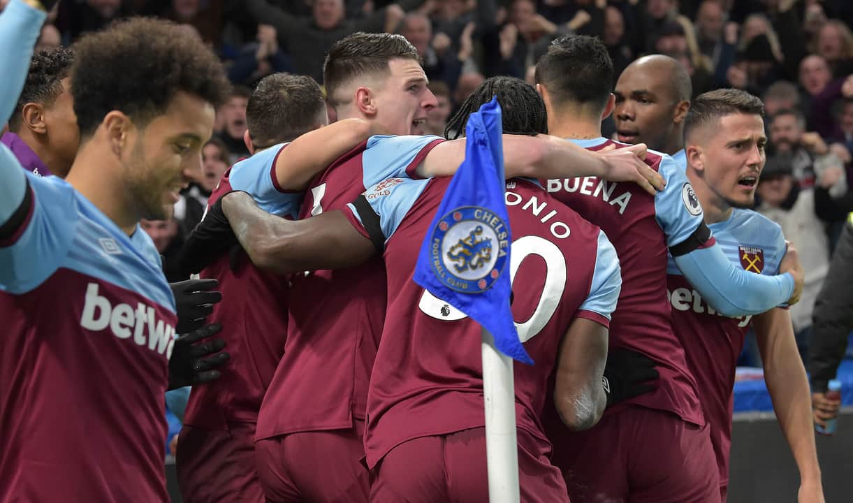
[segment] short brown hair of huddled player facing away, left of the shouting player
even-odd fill
[[[256,148],[292,142],[317,126],[326,113],[322,90],[313,78],[273,73],[249,97],[246,122]]]

